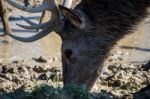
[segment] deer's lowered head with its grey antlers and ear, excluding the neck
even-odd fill
[[[10,37],[22,41],[33,42],[55,31],[62,38],[62,62],[63,62],[63,79],[64,84],[78,84],[92,87],[97,77],[100,65],[99,59],[95,59],[95,55],[99,48],[95,48],[97,44],[91,42],[89,38],[92,29],[90,20],[80,10],[68,9],[72,0],[64,0],[63,6],[57,5],[55,0],[45,0],[42,5],[37,8],[27,8],[21,6],[14,1],[7,0],[14,7],[23,11],[38,13],[48,10],[51,12],[50,20],[46,23],[36,24],[27,18],[21,16],[31,26],[17,24],[25,29],[42,29],[39,33],[32,37],[24,38],[13,34]],[[65,7],[64,7],[65,6]],[[88,31],[88,32],[87,32]],[[98,55],[100,56],[100,54]],[[100,58],[98,57],[97,58]],[[92,78],[92,79],[89,79]],[[94,79],[94,80],[93,80]]]

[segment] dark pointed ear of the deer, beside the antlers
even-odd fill
[[[61,5],[59,5],[59,9],[60,9],[61,14],[67,20],[69,20],[71,22],[71,24],[73,24],[74,26],[76,26],[77,28],[80,28],[80,29],[85,28],[85,21],[84,21],[83,17],[81,17],[79,15],[79,13],[76,13],[72,9],[68,9],[68,8],[63,7]]]

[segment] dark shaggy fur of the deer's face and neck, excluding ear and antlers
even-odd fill
[[[81,30],[67,19],[60,31],[64,84],[91,89],[109,50],[148,15],[150,0],[82,0],[74,12],[85,20]]]

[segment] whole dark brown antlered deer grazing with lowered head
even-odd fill
[[[150,0],[81,0],[74,9],[57,6],[55,0],[45,0],[37,8],[26,8],[14,1],[7,1],[28,12],[51,11],[50,21],[39,25],[22,17],[31,26],[19,26],[43,29],[33,37],[8,35],[19,41],[32,42],[55,31],[63,42],[64,85],[85,85],[88,89],[93,87],[100,76],[110,49],[136,29],[136,25],[147,17],[150,7]]]

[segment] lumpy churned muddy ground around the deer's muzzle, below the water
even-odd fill
[[[88,93],[92,96],[68,99],[149,99],[150,71],[145,70],[143,64],[124,63],[124,55],[120,51],[113,51],[113,54],[110,54],[103,74],[93,90]],[[1,63],[0,99],[30,99],[29,96],[32,96],[35,86],[45,84],[51,86],[50,89],[61,89],[63,86],[61,66],[50,66],[48,61],[47,57],[37,57],[16,60],[8,64]],[[144,87],[146,88],[142,89]],[[66,99],[58,98],[61,92],[58,93],[53,98],[51,96],[45,98],[45,93],[40,92],[34,99]]]

